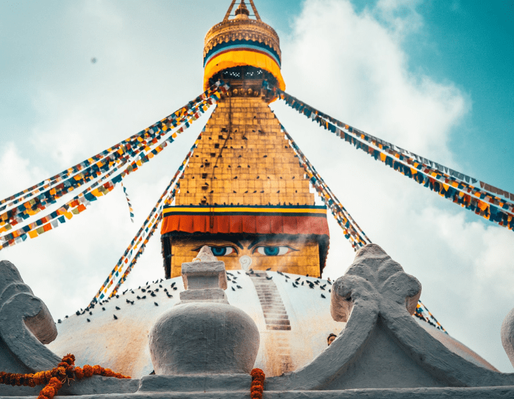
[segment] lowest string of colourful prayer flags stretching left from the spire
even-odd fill
[[[204,105],[206,109],[211,105],[216,104],[219,98],[221,98],[221,93],[226,92],[226,89],[228,87],[226,85],[223,85],[223,83],[219,82],[216,84],[216,86],[217,89],[214,90],[213,93],[211,93],[209,97],[206,98],[206,100],[204,100]],[[203,110],[203,112],[205,110]],[[101,185],[99,188],[95,188],[99,185],[101,181],[105,180],[106,178],[110,177],[114,172],[116,172],[116,168],[108,172],[103,177],[101,177],[99,181],[95,182],[93,185],[91,185],[91,187],[84,190],[84,192],[81,192],[81,194],[77,195],[69,202],[64,204],[64,206],[60,207],[54,212],[51,212],[51,214],[47,215],[46,217],[43,217],[37,220],[36,222],[28,224],[25,227],[16,230],[15,232],[0,237],[0,250],[6,247],[10,247],[14,244],[18,244],[19,242],[24,242],[27,239],[27,236],[30,238],[38,237],[39,234],[43,234],[44,232],[59,227],[59,223],[65,223],[66,219],[71,219],[71,217],[73,217],[74,214],[80,214],[81,212],[84,212],[86,207],[88,207],[91,204],[91,202],[96,201],[97,197],[101,197],[102,195],[106,195],[109,192],[111,192],[114,189],[114,187],[116,187],[116,185],[119,182],[121,182],[121,180],[123,180],[124,177],[126,177],[126,175],[129,175],[131,172],[135,172],[136,170],[138,170],[138,167],[141,167],[143,165],[143,163],[148,162],[154,155],[158,155],[158,153],[161,152],[163,148],[167,146],[167,142],[173,142],[173,138],[176,138],[177,133],[182,133],[184,130],[186,130],[191,125],[191,123],[193,123],[194,120],[198,119],[198,117],[198,114],[190,115],[190,118],[186,118],[181,128],[176,130],[174,133],[172,133],[172,130],[166,131],[168,130],[168,128],[166,128],[167,125],[163,125],[163,131],[161,132],[162,134],[158,135],[158,137],[162,138],[165,135],[170,135],[170,137],[166,138],[166,140],[164,140],[161,145],[156,145],[158,144],[158,140],[154,141],[156,146],[153,147],[153,149],[152,147],[147,146],[143,152],[146,152],[145,155],[139,155],[138,160],[134,160],[133,162],[131,162],[130,165],[126,167],[126,169],[123,172],[121,172],[119,175],[115,176],[108,182],[106,182],[104,185]],[[151,143],[151,145],[154,144]],[[128,161],[129,157],[126,157],[124,158],[124,162],[122,162],[122,164],[125,165],[125,163]],[[72,209],[70,210],[70,208]]]

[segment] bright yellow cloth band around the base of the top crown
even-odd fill
[[[221,53],[207,63],[203,71],[203,90],[207,90],[210,86],[208,80],[219,71],[234,66],[250,65],[256,68],[262,68],[275,76],[278,88],[286,90],[286,83],[283,81],[280,66],[273,58],[263,53],[248,50],[233,50]]]

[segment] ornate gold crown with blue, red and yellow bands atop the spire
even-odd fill
[[[244,0],[229,19],[236,0],[232,1],[225,18],[206,34],[203,47],[203,86],[208,88],[209,79],[229,68],[251,66],[273,76],[273,83],[285,90],[281,75],[280,41],[276,31],[261,21],[257,9],[250,0],[256,19],[251,19]],[[262,80],[262,79],[261,79]]]

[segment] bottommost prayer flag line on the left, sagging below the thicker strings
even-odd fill
[[[216,83],[215,86],[213,86],[213,90],[207,90],[206,93],[203,93],[201,97],[198,98],[205,98],[203,99],[203,111],[208,109],[211,105],[216,104],[217,100],[213,100],[213,98],[221,98],[221,93],[226,92],[228,86],[224,85],[223,83]],[[196,109],[192,108],[193,102],[190,102],[186,107],[183,107],[180,111],[182,117],[184,118],[184,124],[187,123],[187,126],[190,126],[193,123],[193,117],[196,118],[196,113],[190,113],[189,110]],[[181,118],[182,118],[181,117]],[[167,118],[165,118],[167,119]],[[196,118],[198,119],[198,118]],[[196,120],[195,119],[195,120]],[[174,118],[171,118],[169,120],[176,120]],[[161,121],[162,122],[162,121]],[[186,127],[187,128],[187,127]],[[158,155],[159,152],[163,150],[168,145],[168,142],[173,142],[174,138],[176,138],[177,133],[181,133],[185,130],[184,126],[182,126],[180,129],[176,130],[174,133],[172,133],[171,128],[167,128],[166,124],[163,124],[163,130],[161,133],[159,133],[156,137],[158,138],[165,138],[166,135],[168,136],[165,141],[162,142],[161,145],[158,144],[158,140],[152,140],[152,142],[149,142],[148,145],[143,149],[143,152],[141,152],[138,155],[138,160],[134,160],[129,164],[128,167],[126,167],[123,172],[121,172],[119,175],[116,175],[111,180],[106,182],[104,185],[100,185],[100,183],[104,180],[106,180],[108,177],[111,177],[111,175],[114,172],[117,172],[119,170],[119,167],[113,168],[110,170],[106,175],[102,176],[99,180],[94,182],[91,187],[81,192],[81,194],[77,195],[71,201],[66,202],[63,206],[61,206],[57,211],[51,212],[51,214],[46,215],[45,217],[42,217],[39,220],[36,220],[36,222],[29,223],[24,227],[21,227],[20,229],[17,229],[14,232],[11,232],[9,234],[5,234],[4,236],[0,237],[0,250],[4,249],[6,247],[11,247],[15,244],[19,244],[20,242],[24,242],[28,237],[36,238],[40,234],[43,234],[44,232],[48,232],[49,230],[53,229],[53,224],[56,224],[55,220],[58,219],[59,222],[64,220],[61,218],[61,216],[65,215],[67,219],[71,219],[75,214],[80,214],[81,212],[84,212],[84,210],[89,207],[91,202],[96,201],[97,197],[100,197],[102,195],[106,195],[107,193],[111,192],[111,190],[114,189],[114,187],[121,182],[121,180],[126,177],[126,175],[129,175],[131,172],[135,172],[138,170],[138,167],[141,167],[144,163],[148,162],[154,155]],[[122,157],[121,166],[126,165],[126,163],[131,160],[130,155],[126,155]],[[96,188],[98,187],[98,188]],[[55,203],[52,202],[52,203]],[[38,205],[40,208],[39,210],[44,209],[44,206],[40,203]],[[29,209],[27,209],[29,210]],[[39,211],[38,211],[39,212]],[[16,223],[22,222],[24,219],[27,219],[31,216],[31,214],[34,214],[35,212],[27,213],[24,215],[21,220],[16,220]],[[6,224],[6,226],[0,228],[1,232],[6,232],[10,229],[12,229],[12,223]]]

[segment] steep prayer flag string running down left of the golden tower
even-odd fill
[[[124,271],[124,274],[120,277],[118,283],[114,287],[113,291],[109,295],[109,298],[116,295],[116,292],[118,291],[121,284],[123,284],[127,276],[129,276],[129,273],[133,269],[133,266],[136,264],[136,261],[138,258],[143,254],[144,249],[146,247],[146,244],[148,243],[149,239],[153,235],[153,232],[155,232],[156,227],[158,226],[159,222],[161,222],[162,219],[162,206],[163,203],[171,203],[173,202],[173,198],[175,197],[176,190],[180,187],[180,182],[178,182],[178,178],[183,175],[183,170],[188,164],[191,155],[193,155],[194,150],[198,146],[198,142],[201,140],[202,133],[198,135],[198,138],[194,142],[193,146],[191,147],[191,150],[189,150],[188,154],[186,155],[186,158],[183,160],[180,167],[178,167],[178,170],[176,171],[175,175],[171,179],[171,181],[168,184],[168,187],[166,187],[166,190],[164,190],[161,197],[159,197],[155,207],[151,210],[150,214],[148,214],[148,217],[143,222],[143,225],[141,226],[141,229],[137,232],[136,236],[132,239],[131,243],[129,244],[129,247],[125,250],[124,254],[121,256],[119,261],[116,263],[116,266],[114,266],[114,269],[111,270],[109,273],[109,276],[107,276],[107,279],[104,281],[104,284],[100,287],[99,291],[94,296],[94,299],[91,300],[91,303],[94,304],[94,302],[99,301],[101,299],[104,299],[104,297],[107,294],[107,291],[109,288],[114,284],[114,278],[118,277],[121,273],[121,269],[123,269],[123,265],[129,263],[129,260],[133,254],[134,249],[138,247],[139,244],[141,244],[140,248],[138,249],[138,252],[136,253],[136,256],[131,259],[129,266],[127,266],[126,270]],[[146,232],[148,232],[148,236],[143,241],[144,235]]]

